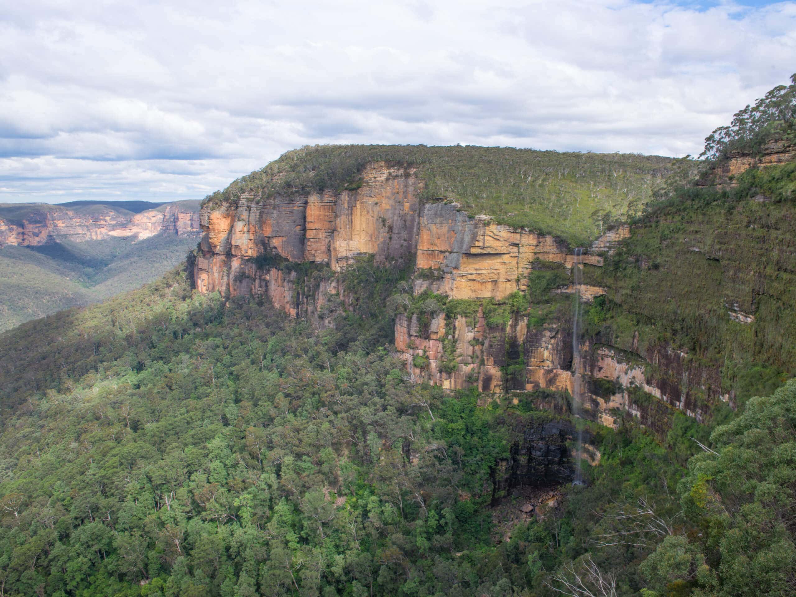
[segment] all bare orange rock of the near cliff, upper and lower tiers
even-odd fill
[[[414,293],[432,291],[451,299],[500,300],[524,291],[535,259],[572,269],[573,252],[560,240],[494,224],[486,216],[469,217],[452,202],[423,203],[422,189],[412,170],[377,162],[365,169],[357,189],[290,198],[250,192],[234,205],[205,205],[205,234],[194,268],[197,290],[267,295],[292,317],[325,326],[335,307],[345,304],[337,273],[357,256],[374,256],[377,263],[414,259]],[[576,267],[601,267],[603,255],[627,236],[626,226],[607,232],[584,250]],[[274,265],[275,259],[322,263],[327,273],[308,285],[306,277],[299,279],[290,268]],[[572,284],[559,290],[572,291]],[[605,293],[589,285],[580,291],[584,301]],[[630,358],[610,346],[583,345],[582,362],[575,364],[571,324],[560,321],[534,326],[527,314],[514,314],[508,325],[490,327],[483,306],[470,317],[398,314],[395,348],[412,380],[451,390],[572,393],[574,371],[583,377],[584,388],[604,388],[606,384],[595,380],[607,380],[612,393],[587,389],[585,396],[586,416],[607,425],[615,424],[614,408],[630,410],[661,429],[670,418],[669,407],[700,416],[689,401],[690,390],[681,391],[683,380],[685,388],[691,387],[685,355],[665,357],[674,369],[680,363],[677,379],[645,373],[662,353]],[[631,396],[635,386],[668,406],[661,407],[663,412],[642,408]]]

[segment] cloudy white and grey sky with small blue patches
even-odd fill
[[[0,202],[201,199],[315,143],[700,153],[796,2],[0,0]]]

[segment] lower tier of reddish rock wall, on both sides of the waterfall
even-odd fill
[[[675,409],[703,420],[710,404],[729,400],[720,389],[720,371],[690,360],[683,351],[657,345],[640,354],[588,341],[579,348],[581,361],[575,364],[571,327],[556,322],[529,326],[527,316],[491,330],[481,312],[474,319],[451,321],[439,314],[427,330],[417,315],[396,320],[396,350],[407,362],[410,378],[446,389],[477,387],[494,394],[549,390],[572,396],[577,371],[584,388],[583,416],[615,427],[619,413],[630,412],[662,435]],[[453,367],[447,353],[454,355]]]

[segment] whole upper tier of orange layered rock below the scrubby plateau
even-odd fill
[[[270,281],[271,275],[258,274],[249,263],[257,257],[325,263],[341,271],[357,256],[374,256],[377,263],[415,259],[416,271],[428,274],[415,276],[416,293],[500,299],[525,288],[534,259],[572,266],[562,241],[469,217],[455,203],[421,205],[422,189],[413,170],[374,163],[359,189],[270,198],[249,192],[235,205],[205,206],[196,287],[270,295],[264,276]],[[622,228],[601,238],[583,263],[602,265],[599,252],[627,233]]]

